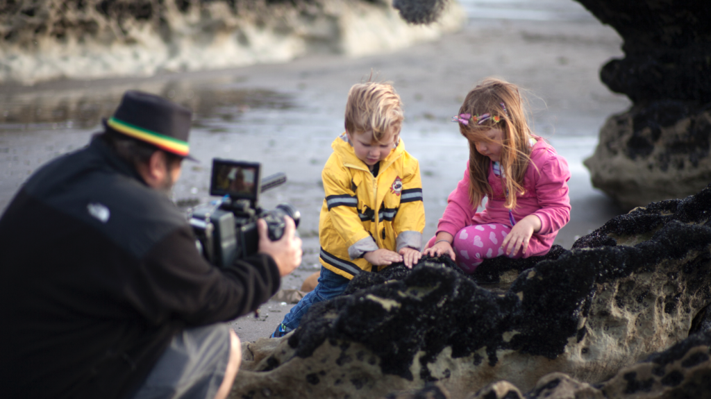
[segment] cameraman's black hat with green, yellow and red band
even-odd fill
[[[188,133],[193,112],[163,97],[129,90],[105,126],[152,144],[163,151],[189,156]]]

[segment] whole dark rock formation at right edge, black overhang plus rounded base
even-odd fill
[[[691,195],[711,181],[711,3],[577,0],[624,39],[600,72],[634,106],[611,116],[585,165],[626,207]]]

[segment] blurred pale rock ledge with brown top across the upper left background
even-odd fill
[[[456,2],[415,26],[390,0],[0,1],[0,83],[368,55],[435,40],[465,19]]]

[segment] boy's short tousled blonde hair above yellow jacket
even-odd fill
[[[388,83],[353,84],[346,103],[346,131],[351,134],[373,130],[378,143],[390,133],[400,133],[402,100]]]

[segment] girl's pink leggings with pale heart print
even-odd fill
[[[501,244],[510,231],[509,226],[500,223],[473,224],[457,231],[452,245],[456,254],[456,265],[464,270],[464,273],[474,273],[476,266],[484,259],[502,256],[504,250]],[[437,241],[437,237],[429,239],[427,247],[433,246],[434,241]],[[515,256],[509,257],[518,259],[521,256],[523,251],[519,250]]]

